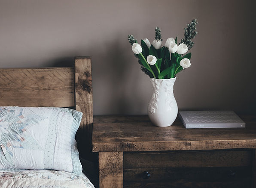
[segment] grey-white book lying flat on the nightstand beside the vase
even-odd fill
[[[245,128],[245,123],[233,111],[181,111],[180,119],[186,129]]]

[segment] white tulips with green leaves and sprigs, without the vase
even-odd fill
[[[165,46],[162,46],[162,35],[159,27],[155,28],[155,40],[150,44],[147,38],[141,40],[141,45],[133,35],[128,35],[128,41],[132,45],[131,49],[135,56],[139,59],[141,70],[150,78],[169,79],[174,78],[177,73],[185,68],[190,67],[191,53],[185,54],[190,50],[194,42],[197,32],[195,25],[198,22],[194,19],[187,24],[185,28],[184,38],[177,44],[177,37],[168,38]]]

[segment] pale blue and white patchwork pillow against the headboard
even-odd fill
[[[0,171],[63,170],[80,175],[75,135],[82,112],[57,107],[0,107]]]

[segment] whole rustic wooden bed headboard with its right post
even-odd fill
[[[0,69],[0,106],[75,108],[83,113],[76,134],[79,153],[89,156],[93,121],[91,58],[76,57],[71,68]]]

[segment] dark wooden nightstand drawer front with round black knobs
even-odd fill
[[[251,184],[250,150],[124,153],[123,159],[125,188],[246,188]]]

